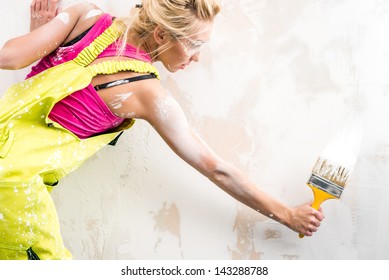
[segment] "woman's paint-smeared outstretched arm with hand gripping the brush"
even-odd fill
[[[157,86],[158,87],[158,86]],[[160,87],[160,86],[159,86]],[[143,116],[183,160],[238,201],[290,229],[311,236],[323,214],[308,204],[290,208],[251,182],[238,168],[218,157],[190,128],[180,106],[163,93],[143,101]],[[152,101],[150,101],[152,100]]]

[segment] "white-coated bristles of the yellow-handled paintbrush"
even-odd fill
[[[350,176],[350,170],[327,159],[319,158],[313,167],[313,174],[317,174],[338,186],[344,188]]]

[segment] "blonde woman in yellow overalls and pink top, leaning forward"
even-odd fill
[[[32,1],[31,32],[0,50],[2,69],[40,60],[0,102],[1,259],[71,258],[48,190],[134,119],[238,201],[306,236],[317,231],[320,211],[287,207],[201,140],[151,64],[176,72],[197,62],[219,10],[217,0],[144,0],[119,19],[90,3],[59,12],[55,0]]]

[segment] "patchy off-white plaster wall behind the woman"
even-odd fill
[[[29,0],[2,3],[0,43],[28,29]],[[63,5],[78,1],[64,1]],[[136,1],[95,1],[117,15]],[[183,163],[142,121],[54,191],[76,259],[389,259],[389,3],[222,1],[213,40],[162,83],[222,157],[289,205],[344,112],[366,118],[340,200],[312,238],[263,217]],[[2,92],[26,70],[1,71]]]

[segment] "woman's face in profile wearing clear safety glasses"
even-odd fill
[[[185,69],[192,61],[199,61],[200,51],[209,41],[212,28],[213,22],[204,21],[199,22],[198,31],[188,37],[177,38],[169,34],[167,50],[159,54],[158,60],[173,73]]]

